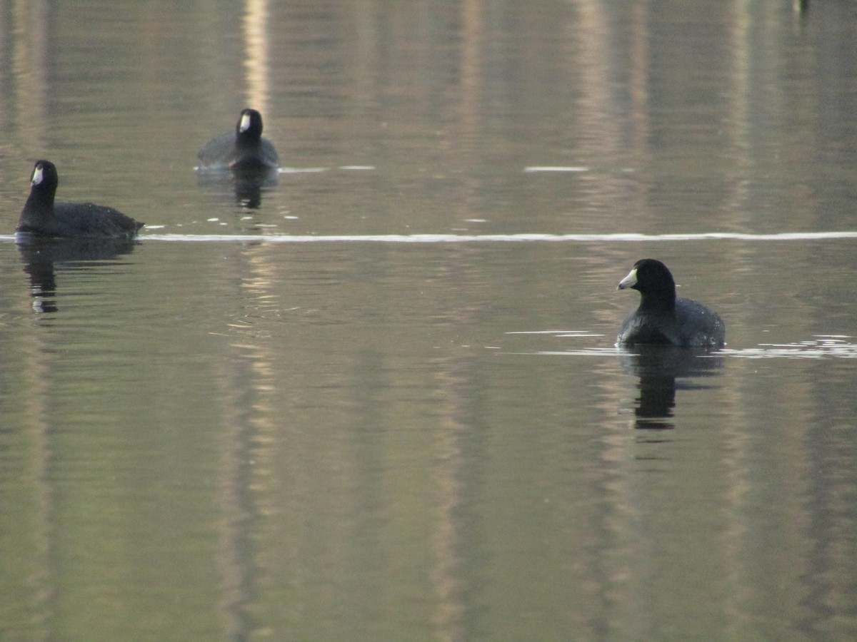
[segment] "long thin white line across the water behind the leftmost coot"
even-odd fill
[[[153,225],[153,229],[162,226]],[[512,242],[642,242],[642,241],[818,241],[855,239],[857,232],[781,232],[779,234],[740,234],[702,232],[699,234],[411,234],[411,235],[287,235],[287,234],[146,234],[140,241],[208,241],[266,243],[512,243]],[[0,235],[0,241],[15,241],[15,235]]]

